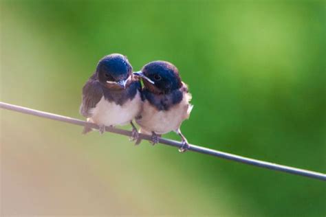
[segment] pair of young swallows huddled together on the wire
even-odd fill
[[[188,87],[172,63],[153,61],[133,72],[127,56],[110,54],[98,62],[83,87],[80,114],[87,122],[98,124],[100,133],[105,126],[131,124],[131,139],[136,141],[139,134],[133,119],[140,133],[151,135],[153,144],[162,134],[175,131],[182,139],[180,152],[184,152],[189,144],[180,126],[193,109],[190,100]],[[89,131],[85,126],[83,133]]]

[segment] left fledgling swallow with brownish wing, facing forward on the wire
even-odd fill
[[[138,139],[132,120],[141,110],[140,91],[140,80],[133,76],[127,56],[110,54],[98,62],[96,71],[83,87],[80,114],[87,117],[87,122],[98,124],[100,133],[105,132],[105,126],[130,123],[131,139]],[[85,127],[83,133],[90,130]]]

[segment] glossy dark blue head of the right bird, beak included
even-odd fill
[[[153,92],[170,93],[182,87],[179,71],[171,62],[149,62],[134,74],[142,77],[144,86]]]

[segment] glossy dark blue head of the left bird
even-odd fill
[[[98,80],[102,84],[116,85],[125,88],[133,71],[127,56],[110,54],[103,57],[96,67]]]

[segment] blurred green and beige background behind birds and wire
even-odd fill
[[[12,0],[0,24],[3,102],[83,118],[102,56],[168,60],[192,144],[326,172],[325,1]],[[326,215],[322,181],[0,112],[4,216]]]

